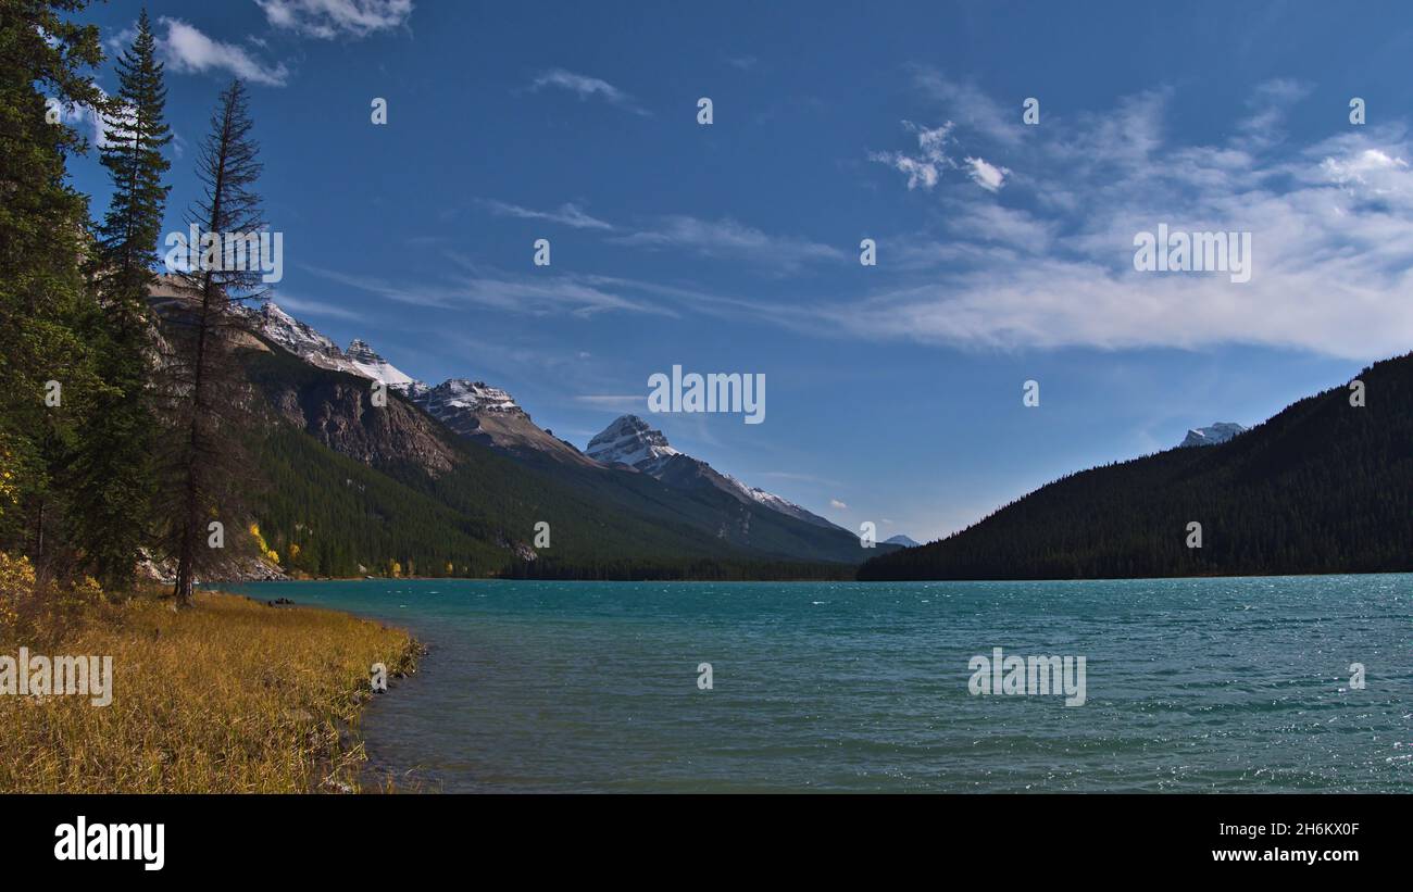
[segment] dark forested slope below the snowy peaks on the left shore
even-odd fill
[[[762,579],[852,574],[855,536],[644,474],[540,466],[462,438],[370,384],[266,344],[242,354],[261,423],[253,517],[318,576]],[[550,545],[536,545],[548,524]],[[745,535],[726,526],[745,529]],[[828,562],[828,563],[824,563]]]

